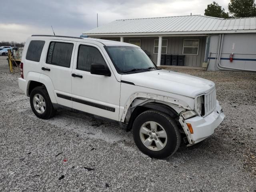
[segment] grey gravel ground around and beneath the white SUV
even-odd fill
[[[256,191],[256,74],[179,70],[216,83],[226,119],[199,146],[157,160],[115,124],[64,110],[37,118],[19,74],[1,71],[0,191]]]

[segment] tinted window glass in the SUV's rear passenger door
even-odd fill
[[[72,43],[51,42],[46,63],[69,68],[73,46]]]

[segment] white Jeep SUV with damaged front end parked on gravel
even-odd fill
[[[161,70],[138,46],[94,38],[33,35],[19,87],[36,116],[79,110],[132,130],[148,156],[166,158],[212,135],[224,114],[215,84]]]

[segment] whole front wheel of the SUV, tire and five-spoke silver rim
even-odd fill
[[[180,146],[181,135],[176,123],[162,112],[143,112],[134,121],[132,130],[136,146],[150,157],[166,158]]]

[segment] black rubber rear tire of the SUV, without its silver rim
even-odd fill
[[[36,94],[40,94],[44,98],[45,111],[42,114],[40,114],[36,111],[36,108],[34,107],[34,104],[33,104],[33,98]],[[55,110],[52,106],[50,96],[49,96],[47,90],[44,88],[44,86],[36,87],[31,91],[31,93],[30,93],[30,106],[31,106],[32,111],[34,112],[34,114],[37,117],[41,118],[41,119],[49,119],[49,118],[54,116]]]

